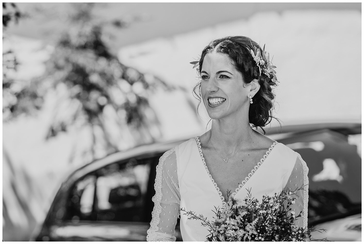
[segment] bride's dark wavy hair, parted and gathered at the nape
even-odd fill
[[[253,97],[253,104],[250,104],[249,123],[255,128],[260,127],[264,131],[262,127],[269,124],[273,118],[276,119],[272,115],[273,99],[275,97],[272,87],[276,86],[277,83],[272,80],[273,75],[271,73],[269,76],[264,73],[259,75],[259,67],[250,53],[250,49],[253,49],[252,45],[260,50],[261,55],[263,54],[260,45],[246,36],[227,36],[213,40],[202,50],[197,71],[201,75],[203,59],[207,53],[225,53],[229,56],[235,69],[241,73],[246,85],[257,79],[260,89]],[[199,100],[198,105],[200,105],[202,99],[200,89],[201,81],[193,88],[194,95]]]

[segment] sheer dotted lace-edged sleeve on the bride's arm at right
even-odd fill
[[[308,167],[305,161],[302,160],[300,154],[297,154],[296,163],[284,191],[296,191],[296,200],[290,207],[294,211],[295,215],[298,215],[302,211],[302,216],[298,217],[294,224],[299,227],[307,227],[307,213],[308,213]]]

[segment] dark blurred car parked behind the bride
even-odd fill
[[[300,153],[308,165],[309,226],[328,229],[313,237],[361,240],[361,124],[283,126],[267,135]],[[117,152],[71,173],[35,240],[145,241],[155,167],[165,151],[183,141]],[[182,241],[179,223],[175,236]]]

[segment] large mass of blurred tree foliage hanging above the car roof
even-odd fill
[[[125,21],[98,20],[93,15],[94,3],[70,6],[68,28],[56,41],[45,74],[28,83],[3,79],[3,117],[10,120],[36,111],[47,92],[55,91],[46,139],[88,127],[92,142],[84,153],[91,153],[91,159],[98,157],[96,147],[109,154],[120,150],[120,142],[128,141],[130,147],[153,142],[161,130],[148,102],[150,96],[157,89],[185,90],[120,63],[111,53],[104,28],[124,28]],[[16,60],[13,63],[16,69]]]

